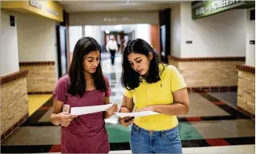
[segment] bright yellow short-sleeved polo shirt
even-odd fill
[[[160,65],[160,72],[164,66]],[[168,65],[160,75],[160,81],[148,84],[142,81],[138,88],[127,90],[124,88],[124,96],[133,98],[136,109],[157,104],[173,103],[172,92],[186,88],[182,75],[175,66]],[[178,125],[177,116],[157,114],[153,116],[136,117],[134,123],[148,131],[164,131]]]

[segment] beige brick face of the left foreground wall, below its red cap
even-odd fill
[[[23,116],[28,114],[27,78],[2,84],[1,134],[13,127]]]

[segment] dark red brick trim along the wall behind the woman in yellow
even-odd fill
[[[168,56],[178,62],[198,62],[198,61],[245,61],[245,57],[200,57],[200,58],[178,58],[175,56]]]

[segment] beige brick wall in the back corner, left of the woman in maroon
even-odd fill
[[[28,70],[28,92],[53,91],[56,85],[56,66],[20,66],[20,70]]]

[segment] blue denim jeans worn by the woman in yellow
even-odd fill
[[[146,131],[133,124],[130,144],[132,153],[182,153],[178,126],[166,131]]]

